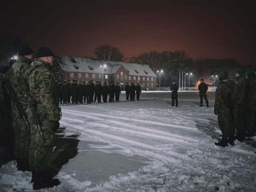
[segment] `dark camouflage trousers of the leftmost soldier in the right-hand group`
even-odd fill
[[[236,130],[230,112],[218,114],[218,124],[222,132],[222,138],[234,136]]]

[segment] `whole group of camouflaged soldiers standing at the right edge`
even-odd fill
[[[247,74],[244,68],[235,71],[235,81],[228,80],[226,70],[218,76],[220,83],[215,92],[214,114],[218,115],[222,140],[215,143],[217,146],[234,145],[234,140],[242,142],[256,133],[256,71]]]

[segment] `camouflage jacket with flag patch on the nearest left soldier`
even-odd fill
[[[30,94],[36,103],[36,111],[41,120],[60,120],[59,108],[54,96],[54,77],[49,65],[42,60],[34,61],[27,70],[25,78]]]

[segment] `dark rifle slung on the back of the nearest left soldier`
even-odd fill
[[[27,101],[28,101],[28,106],[30,107],[31,111],[32,111],[32,115],[34,117],[34,122],[36,123],[36,125],[38,126],[38,129],[39,129],[39,132],[40,132],[40,135],[42,137],[42,139],[44,140],[44,137],[43,137],[43,134],[41,132],[41,125],[42,125],[42,122],[40,122],[39,118],[38,118],[38,114],[36,112],[36,104],[35,104],[35,101],[34,99],[32,98],[32,96],[30,95],[30,90],[29,90],[29,86],[28,86],[28,83],[26,82],[26,79],[25,78],[22,78],[22,83],[24,85],[24,88],[25,88],[25,92],[26,92],[26,98],[27,98]]]

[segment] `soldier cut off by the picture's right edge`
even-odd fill
[[[248,83],[250,86],[249,90],[249,114],[248,114],[248,126],[247,132],[244,136],[253,137],[254,134],[254,120],[255,120],[255,108],[256,108],[256,74],[254,71],[247,73]]]

